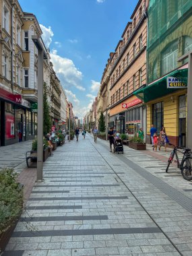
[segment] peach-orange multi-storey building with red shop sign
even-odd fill
[[[133,93],[146,85],[147,7],[148,1],[138,1],[110,57],[110,124],[129,135],[146,129],[146,108]]]

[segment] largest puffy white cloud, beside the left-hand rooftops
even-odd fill
[[[71,88],[71,86],[74,86],[78,90],[86,90],[86,88],[81,86],[83,74],[77,69],[77,67],[75,67],[71,59],[57,55],[57,50],[53,50],[50,53],[50,56],[54,70],[56,71],[61,84],[63,84],[65,88]]]

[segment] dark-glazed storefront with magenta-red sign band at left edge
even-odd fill
[[[20,94],[11,94],[0,88],[0,146],[34,138],[34,120],[30,102]]]

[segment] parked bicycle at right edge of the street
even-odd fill
[[[170,146],[174,146],[171,143],[168,143],[168,144]],[[183,154],[181,163],[179,162],[179,157],[178,157],[177,152],[180,152],[181,154]],[[191,179],[192,179],[192,168],[191,168],[192,152],[191,152],[191,149],[174,146],[174,149],[172,150],[172,152],[170,153],[170,157],[168,158],[168,166],[166,167],[166,172],[168,172],[168,167],[172,163],[174,156],[176,156],[176,160],[174,160],[174,162],[177,162],[177,167],[180,168],[183,178],[187,181],[191,181]]]

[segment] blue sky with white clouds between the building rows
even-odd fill
[[[42,28],[51,61],[74,113],[84,117],[97,95],[110,52],[138,0],[19,0]]]

